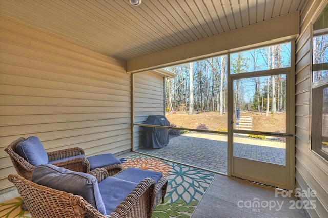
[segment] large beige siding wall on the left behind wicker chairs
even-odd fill
[[[15,173],[4,149],[35,135],[47,151],[131,149],[131,75],[125,62],[0,16],[0,189]]]

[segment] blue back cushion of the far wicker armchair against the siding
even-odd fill
[[[33,166],[48,164],[49,161],[45,148],[36,136],[20,141],[16,146],[16,153]]]

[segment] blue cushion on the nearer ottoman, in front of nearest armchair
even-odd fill
[[[140,183],[145,178],[153,179],[155,184],[163,176],[161,172],[143,170],[138,168],[128,168],[123,172],[117,174],[115,177],[121,180],[126,180],[130,182]]]

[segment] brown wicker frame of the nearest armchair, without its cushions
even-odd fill
[[[98,169],[93,171],[97,171]],[[100,176],[96,176],[96,179],[100,182],[105,179],[105,177],[106,175],[100,174]],[[96,218],[151,217],[154,182],[149,178],[142,180],[133,191],[125,197],[125,200],[106,216],[101,214],[79,195],[38,185],[17,174],[10,174],[8,179],[15,184],[27,209],[34,218],[84,218],[89,216]]]

